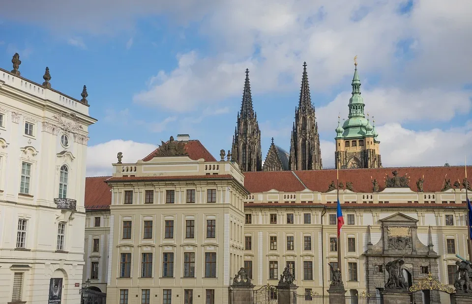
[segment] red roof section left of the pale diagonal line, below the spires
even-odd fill
[[[257,171],[244,173],[244,187],[250,193],[266,192],[275,189],[295,192],[305,189],[292,171]]]

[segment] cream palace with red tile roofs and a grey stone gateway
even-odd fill
[[[86,244],[98,244],[84,280],[96,270],[90,286],[108,284],[107,303],[228,303],[240,267],[257,286],[277,285],[288,267],[299,293],[326,294],[338,242],[350,295],[379,293],[398,254],[409,284],[429,273],[453,284],[456,254],[468,257],[464,167],[340,169],[338,241],[335,169],[241,174],[223,150],[221,158],[179,135],[143,160],[114,164],[112,177],[88,178]],[[425,299],[450,303],[435,291],[413,294]]]

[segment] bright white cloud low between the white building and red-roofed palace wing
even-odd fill
[[[132,140],[114,139],[89,146],[87,149],[87,176],[112,174],[112,165],[117,163],[118,152],[123,153],[123,163],[136,163],[156,149],[156,145]]]

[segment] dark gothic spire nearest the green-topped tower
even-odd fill
[[[290,169],[313,170],[322,167],[315,107],[311,103],[306,62],[303,62],[300,100],[298,107],[295,108],[295,123],[290,144]]]

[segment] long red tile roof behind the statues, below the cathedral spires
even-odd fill
[[[464,166],[437,166],[437,167],[398,167],[398,168],[374,168],[374,169],[340,169],[339,181],[346,185],[352,182],[354,192],[372,193],[371,177],[377,179],[379,191],[385,189],[386,175],[392,177],[392,171],[397,170],[399,176],[408,174],[410,188],[416,191],[416,181],[424,176],[424,192],[440,192],[444,186],[444,178],[450,178],[451,184],[459,181],[462,184],[465,178]],[[468,175],[472,177],[472,168],[467,168]],[[331,181],[336,182],[336,169],[271,172],[246,172],[244,174],[244,187],[251,193],[266,192],[275,189],[282,192],[301,191],[305,185],[308,189],[317,192],[326,192]],[[472,185],[472,181],[469,181]]]

